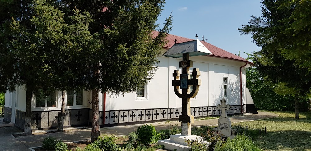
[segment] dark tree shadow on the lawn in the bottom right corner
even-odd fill
[[[297,150],[311,149],[311,132],[300,130],[285,130],[269,132],[259,136],[254,142],[264,150]]]

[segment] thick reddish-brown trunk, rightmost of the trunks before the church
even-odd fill
[[[92,90],[92,133],[91,142],[99,136],[99,111],[98,111],[98,90]]]

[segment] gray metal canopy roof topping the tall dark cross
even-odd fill
[[[183,53],[189,53],[189,56],[200,56],[212,54],[200,40],[187,41],[183,43],[175,43],[168,51],[162,56],[180,58]]]

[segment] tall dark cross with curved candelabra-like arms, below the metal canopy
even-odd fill
[[[182,98],[182,109],[183,114],[179,116],[179,121],[181,121],[182,132],[181,135],[188,136],[191,134],[190,124],[194,123],[193,116],[191,115],[190,109],[190,98],[197,95],[199,91],[199,86],[201,85],[201,75],[199,69],[194,68],[192,75],[193,79],[190,79],[189,68],[192,67],[192,60],[189,60],[189,54],[183,54],[183,61],[179,62],[179,67],[182,67],[182,75],[180,75],[178,70],[173,73],[174,80],[172,80],[172,85],[174,86],[174,92],[179,97]],[[193,89],[190,92],[190,85],[193,85]],[[182,93],[179,92],[179,88]]]

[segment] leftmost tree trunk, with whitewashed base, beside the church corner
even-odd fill
[[[29,89],[26,86],[26,112],[25,112],[25,125],[24,125],[24,134],[32,135],[31,130],[31,98],[32,98],[32,89]]]

